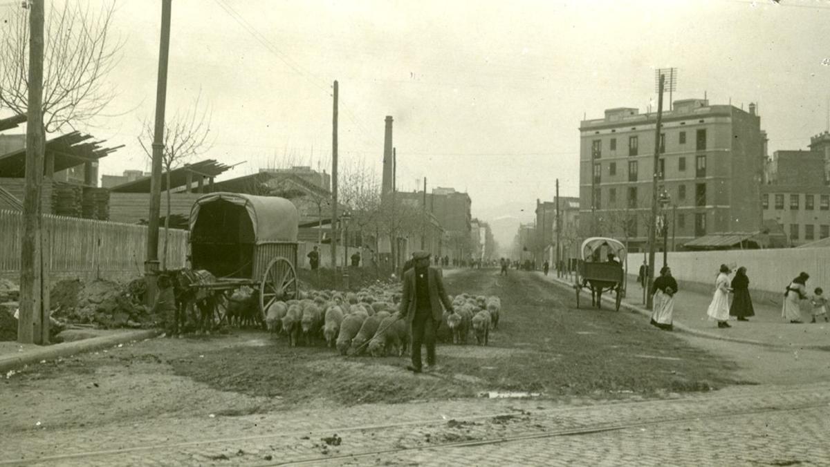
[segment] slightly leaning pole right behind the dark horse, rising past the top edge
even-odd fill
[[[167,101],[167,62],[170,49],[170,11],[172,0],[161,3],[161,41],[159,44],[159,78],[156,82],[156,115],[153,134],[153,166],[150,177],[150,212],[147,226],[147,304],[153,304],[156,275],[159,272],[159,216],[161,215],[161,166],[164,157],[164,109]],[[170,187],[168,187],[170,189]]]

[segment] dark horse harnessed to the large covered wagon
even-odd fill
[[[193,310],[193,323],[197,333],[210,333],[216,312],[217,296],[213,290],[196,285],[216,282],[216,277],[207,270],[168,270],[173,280],[173,294],[176,297],[175,329],[184,330],[188,321],[188,310]]]

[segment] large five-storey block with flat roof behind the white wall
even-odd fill
[[[755,105],[745,112],[676,100],[662,114],[659,144],[656,121],[657,114],[617,108],[581,122],[580,236],[627,237],[632,251],[646,247],[656,150],[672,245],[713,232],[759,231],[766,136]]]

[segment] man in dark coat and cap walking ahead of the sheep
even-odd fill
[[[427,371],[436,368],[435,334],[441,323],[443,310],[452,313],[452,303],[444,290],[442,272],[429,265],[429,253],[413,253],[414,267],[403,275],[403,296],[398,318],[406,319],[412,335],[411,372],[422,371],[421,345],[427,345]]]

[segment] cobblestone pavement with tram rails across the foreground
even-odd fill
[[[830,465],[828,417],[827,383],[156,416],[9,433],[0,465]]]

